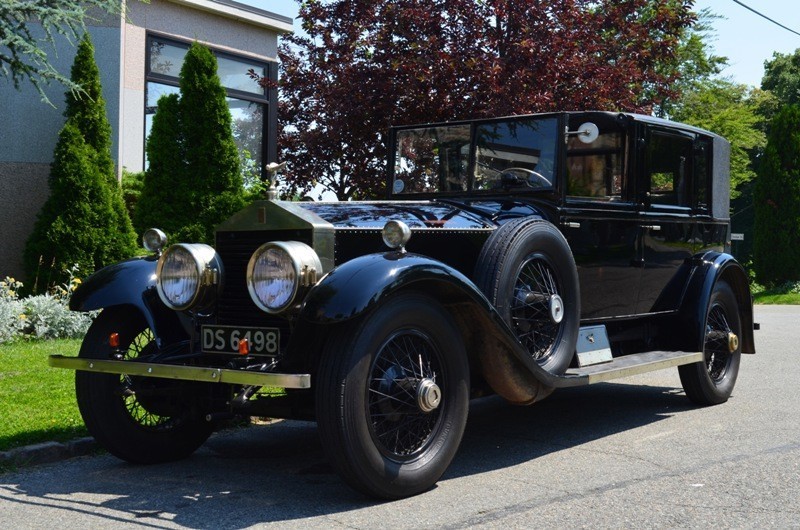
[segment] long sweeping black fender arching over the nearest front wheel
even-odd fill
[[[547,396],[559,379],[543,370],[478,287],[452,267],[400,252],[353,259],[326,275],[306,297],[296,334],[319,326],[346,325],[401,290],[431,295],[450,311],[464,337],[473,373],[480,373],[506,400],[530,404]],[[314,364],[313,359],[308,359]]]

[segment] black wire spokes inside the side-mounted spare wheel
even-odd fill
[[[511,322],[517,337],[537,361],[553,353],[561,323],[551,314],[554,297],[561,293],[549,262],[529,257],[520,268],[511,303]]]

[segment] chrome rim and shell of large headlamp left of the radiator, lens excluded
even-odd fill
[[[164,277],[164,266],[170,256],[178,249],[188,252],[194,264],[194,272],[197,275],[197,283],[194,286],[192,295],[186,302],[177,304],[170,300],[164,292],[162,279]],[[222,278],[222,261],[213,247],[203,243],[177,243],[170,245],[158,258],[156,264],[156,291],[158,297],[170,309],[175,311],[188,311],[198,306],[206,307],[210,303],[214,287],[217,286]],[[201,307],[201,308],[202,308]]]

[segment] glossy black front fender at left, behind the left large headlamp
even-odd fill
[[[133,306],[147,321],[159,343],[184,340],[178,313],[169,309],[156,291],[156,258],[133,258],[95,272],[72,293],[69,308],[95,311],[115,306]]]

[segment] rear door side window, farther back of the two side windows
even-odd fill
[[[694,139],[651,131],[645,149],[645,177],[650,204],[691,206]]]

